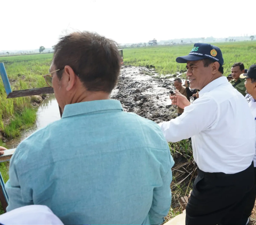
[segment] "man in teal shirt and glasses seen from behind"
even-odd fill
[[[12,156],[7,211],[46,205],[64,224],[163,222],[174,162],[156,123],[109,99],[120,66],[114,41],[91,32],[60,39],[45,79],[63,115]]]

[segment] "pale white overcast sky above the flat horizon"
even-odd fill
[[[119,44],[256,35],[255,0],[1,0],[0,51],[52,47],[72,31]]]

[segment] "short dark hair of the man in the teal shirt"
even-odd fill
[[[93,32],[73,32],[55,45],[53,64],[59,79],[63,68],[69,65],[89,91],[114,89],[120,68],[121,56],[115,41]]]

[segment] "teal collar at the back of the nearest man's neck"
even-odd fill
[[[62,118],[106,110],[123,111],[123,107],[119,101],[114,99],[74,103],[65,106]]]

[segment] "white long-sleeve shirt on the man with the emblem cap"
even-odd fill
[[[167,141],[191,137],[194,160],[204,172],[233,174],[253,161],[254,118],[244,96],[226,77],[210,82],[179,117],[159,126]]]

